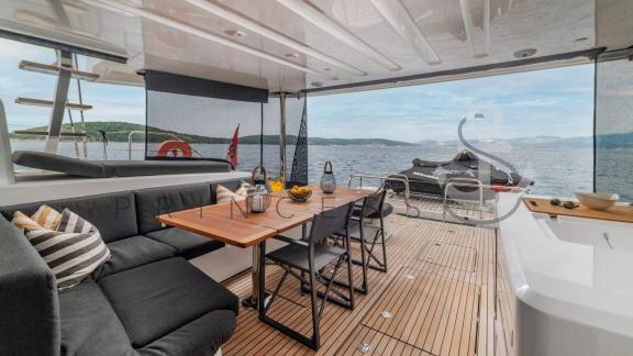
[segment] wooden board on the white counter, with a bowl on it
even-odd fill
[[[574,209],[563,208],[564,200],[560,200],[560,205],[552,205],[548,199],[540,198],[523,198],[523,202],[530,211],[537,213],[633,223],[633,207],[615,205],[608,210],[600,211],[582,205]]]

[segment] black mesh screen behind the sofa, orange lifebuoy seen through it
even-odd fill
[[[278,96],[155,71],[147,73],[146,89],[146,159],[229,158],[235,152],[232,137],[238,127],[236,169],[263,164],[269,178],[308,182],[304,96],[286,97],[286,171],[281,173]]]

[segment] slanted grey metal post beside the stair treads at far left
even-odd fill
[[[73,54],[66,51],[59,51],[59,77],[55,88],[55,101],[53,102],[53,112],[48,123],[48,135],[46,136],[47,153],[56,154],[59,145],[59,134],[64,123],[64,110],[68,100],[68,86],[70,85],[70,70],[73,69]]]

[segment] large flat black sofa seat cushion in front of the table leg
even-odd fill
[[[155,342],[212,311],[238,312],[235,294],[179,257],[103,277],[99,286],[134,347]]]

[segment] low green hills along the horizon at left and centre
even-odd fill
[[[129,122],[87,122],[86,123],[86,132],[88,141],[101,141],[102,136],[99,132],[100,130],[106,132],[106,137],[110,142],[127,142],[127,137],[130,133],[133,131],[141,131],[145,132],[147,129],[148,134],[148,142],[158,143],[165,140],[170,140],[171,135],[176,135],[179,138],[189,142],[189,143],[199,143],[199,144],[227,144],[231,140],[227,137],[209,137],[209,136],[201,136],[201,135],[193,135],[193,134],[182,134],[177,133],[175,131],[167,131],[160,130],[157,127],[152,127],[141,124],[134,124]],[[33,131],[33,132],[44,132],[46,131],[46,126],[38,126],[32,127],[25,131]],[[71,126],[69,123],[62,125],[62,132],[71,132]],[[32,141],[32,140],[44,140],[45,136],[41,135],[24,135],[24,134],[10,134],[11,140],[23,140],[23,141]],[[133,142],[144,142],[144,135],[137,134],[134,135]],[[264,144],[278,144],[279,137],[277,135],[264,135]],[[62,137],[62,140],[70,141],[71,137]],[[296,135],[287,135],[286,140],[288,144],[295,144],[297,142]],[[241,136],[240,143],[243,145],[258,145],[259,144],[259,135],[248,135],[248,136]],[[413,146],[414,144],[408,142],[400,142],[400,141],[392,141],[392,140],[384,140],[384,138],[323,138],[323,137],[309,137],[308,143],[310,145],[376,145],[376,146]]]

